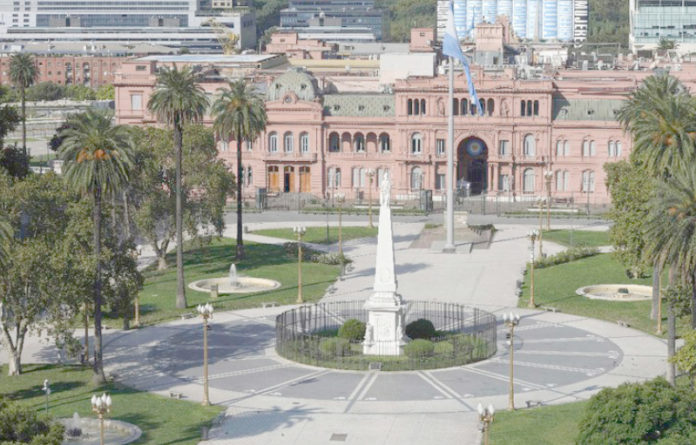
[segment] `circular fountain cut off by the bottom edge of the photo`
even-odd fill
[[[81,418],[75,413],[69,419],[58,419],[65,426],[63,445],[97,445],[99,444],[99,419]],[[104,420],[104,443],[108,445],[125,445],[135,442],[142,436],[137,426],[120,420]]]

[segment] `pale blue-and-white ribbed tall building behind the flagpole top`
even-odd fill
[[[448,0],[438,1],[439,39],[444,35],[448,5]],[[479,23],[507,16],[515,35],[523,40],[583,41],[587,5],[587,0],[454,0],[454,24],[460,38],[470,38]]]

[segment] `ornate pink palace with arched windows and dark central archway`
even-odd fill
[[[119,123],[151,124],[146,112],[155,62],[126,63],[116,79]],[[695,66],[674,74],[694,84]],[[609,201],[603,165],[626,159],[631,140],[615,120],[622,100],[650,71],[558,71],[524,80],[513,68],[473,69],[484,116],[473,112],[463,74],[456,76],[455,165],[474,193],[498,199],[545,196]],[[270,80],[264,81],[268,78]],[[261,79],[261,80],[260,80]],[[244,150],[244,190],[303,192],[355,199],[388,173],[397,200],[420,190],[444,195],[447,78],[410,77],[389,92],[336,92],[298,68],[257,72],[266,89],[268,126]],[[352,82],[359,82],[356,76]],[[204,84],[214,94],[222,84]],[[210,120],[208,120],[208,123]],[[235,143],[220,142],[235,168]],[[375,176],[370,180],[370,172]],[[370,185],[372,184],[372,185]]]

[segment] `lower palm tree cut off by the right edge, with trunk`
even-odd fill
[[[691,284],[691,305],[696,306],[696,166],[678,171],[657,186],[651,200],[646,224],[646,255],[660,266],[670,267],[670,286],[678,275],[683,285]],[[668,301],[668,358],[675,351],[674,302]],[[691,324],[696,325],[696,313],[691,312]],[[674,380],[673,364],[668,377]]]

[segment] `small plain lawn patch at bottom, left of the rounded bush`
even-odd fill
[[[587,402],[499,411],[491,424],[491,445],[571,445]]]

